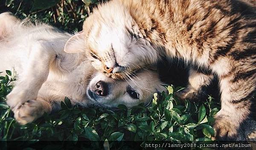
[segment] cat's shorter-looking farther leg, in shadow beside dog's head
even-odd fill
[[[179,99],[198,100],[202,94],[202,88],[207,87],[213,79],[212,74],[203,73],[195,68],[189,69],[189,84],[187,88],[175,93]]]

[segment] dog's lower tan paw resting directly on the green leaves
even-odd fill
[[[20,125],[25,125],[33,122],[35,119],[41,117],[44,113],[50,113],[51,106],[41,100],[28,100],[20,105],[14,112],[15,119]]]

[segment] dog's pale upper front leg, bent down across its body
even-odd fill
[[[36,100],[38,91],[49,74],[49,65],[55,59],[55,52],[47,41],[33,43],[23,72],[18,73],[18,80],[12,92],[7,95],[7,104],[14,113],[18,112],[29,100]],[[15,114],[15,116],[17,116]]]

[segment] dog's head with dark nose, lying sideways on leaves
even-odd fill
[[[128,108],[144,103],[147,105],[153,93],[161,92],[159,76],[154,71],[143,70],[128,79],[113,79],[102,73],[96,74],[87,87],[87,97],[91,103],[116,108],[126,105]]]

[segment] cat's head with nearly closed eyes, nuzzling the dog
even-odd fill
[[[83,31],[70,38],[64,51],[86,53],[94,68],[113,78],[154,65],[159,55],[128,10],[117,4],[111,7],[106,3],[95,9],[85,20]]]

